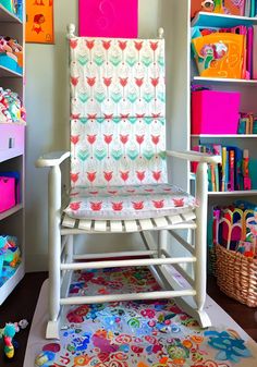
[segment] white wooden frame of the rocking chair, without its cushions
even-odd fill
[[[69,36],[73,35],[74,27],[70,26],[69,29]],[[208,315],[204,310],[207,273],[207,163],[219,163],[220,157],[196,151],[167,151],[167,155],[199,162],[196,173],[196,197],[200,205],[194,213],[155,219],[111,221],[90,219],[78,221],[66,216],[63,218],[60,164],[70,157],[70,151],[48,154],[37,160],[37,167],[50,168],[48,178],[49,321],[46,332],[47,339],[59,338],[59,317],[62,306],[114,301],[176,297],[178,305],[194,317],[201,327],[211,325]],[[192,245],[175,232],[175,230],[181,229],[195,232],[195,245]],[[160,232],[157,244],[154,241],[151,231]],[[107,253],[105,255],[74,255],[73,236],[76,234],[133,232],[138,232],[142,235],[146,250]],[[172,257],[169,253],[167,233],[171,234],[189,255]],[[107,260],[93,261],[103,256]],[[138,256],[140,257],[139,259],[134,259],[134,257]],[[112,259],[119,257],[127,257],[127,259]],[[193,264],[194,276],[192,277],[181,264]],[[186,286],[182,286],[181,282],[178,283],[170,276],[170,272],[167,271],[167,265],[173,266],[186,281]],[[133,266],[150,267],[166,290],[163,289],[160,292],[68,297],[72,276],[71,270]],[[184,298],[185,296],[186,298]]]

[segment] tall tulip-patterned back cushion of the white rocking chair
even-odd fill
[[[164,40],[75,37],[71,183],[167,182]]]

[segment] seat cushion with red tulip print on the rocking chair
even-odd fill
[[[170,184],[76,186],[64,212],[75,219],[128,220],[182,215],[195,208],[195,197]]]

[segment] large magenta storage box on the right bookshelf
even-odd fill
[[[238,91],[192,91],[192,134],[236,134],[240,101]]]

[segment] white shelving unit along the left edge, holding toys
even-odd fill
[[[23,45],[24,63],[23,74],[9,70],[0,65],[1,87],[10,88],[16,91],[24,101],[24,70],[25,70],[25,1],[23,11],[23,22],[0,4],[0,34],[7,35],[19,40]],[[3,131],[4,129],[4,131]],[[17,140],[12,148],[7,148],[2,136],[10,130],[10,136],[15,134],[15,129],[20,129],[20,123],[0,124],[0,172],[19,171],[21,185],[21,203],[15,207],[0,213],[0,234],[10,234],[17,237],[17,244],[21,249],[22,261],[15,269],[15,272],[0,286],[0,305],[10,295],[13,289],[19,284],[25,273],[25,142],[24,137],[17,134]],[[23,127],[22,127],[23,129]],[[15,140],[15,139],[14,139]],[[16,144],[19,142],[19,144]]]

